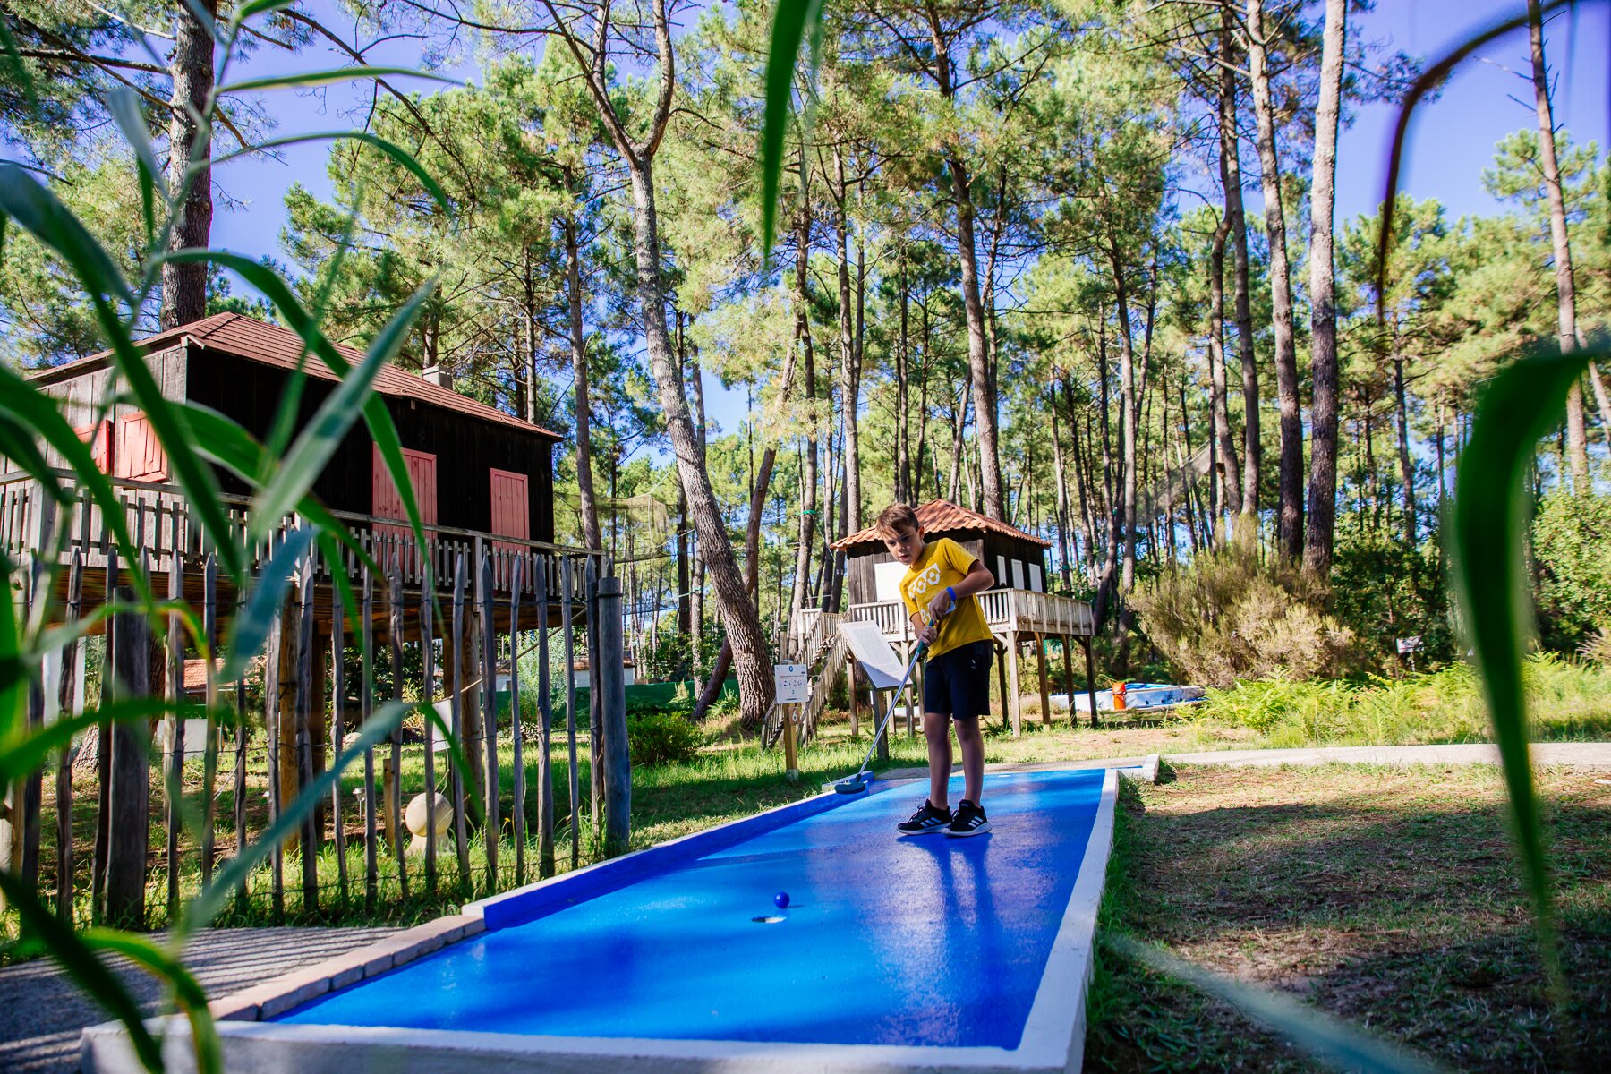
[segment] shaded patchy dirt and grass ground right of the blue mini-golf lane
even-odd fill
[[[1165,779],[1121,799],[1104,931],[1452,1069],[1611,1069],[1611,786],[1595,773],[1539,771],[1564,1008],[1540,969],[1497,768],[1182,766]],[[1099,960],[1086,1056],[1094,1071],[1311,1069],[1113,953]]]

